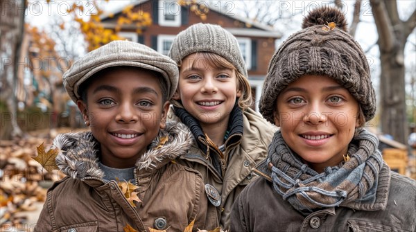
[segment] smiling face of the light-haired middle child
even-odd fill
[[[227,128],[229,114],[238,90],[235,70],[211,64],[201,53],[193,53],[182,60],[175,100],[200,122],[202,128]]]

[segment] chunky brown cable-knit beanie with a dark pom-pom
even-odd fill
[[[304,18],[299,32],[288,37],[275,52],[268,67],[259,102],[259,111],[274,123],[273,111],[279,93],[303,75],[327,75],[356,98],[365,121],[376,111],[370,69],[361,46],[347,28],[340,10],[317,8]]]

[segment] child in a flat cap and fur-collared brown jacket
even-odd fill
[[[67,177],[49,189],[34,231],[205,228],[202,176],[173,161],[191,133],[166,123],[177,73],[171,58],[128,41],[110,42],[64,73],[91,132],[53,141]]]

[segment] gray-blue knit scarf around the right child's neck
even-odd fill
[[[320,208],[374,202],[383,158],[374,134],[359,129],[349,144],[351,159],[318,173],[302,163],[276,132],[268,150],[268,168],[275,190],[297,211],[308,215]],[[271,164],[270,164],[271,161]]]

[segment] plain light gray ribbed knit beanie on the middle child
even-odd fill
[[[246,78],[248,77],[239,42],[221,26],[201,23],[189,26],[177,34],[168,56],[179,64],[187,55],[198,52],[220,55],[231,62]]]

